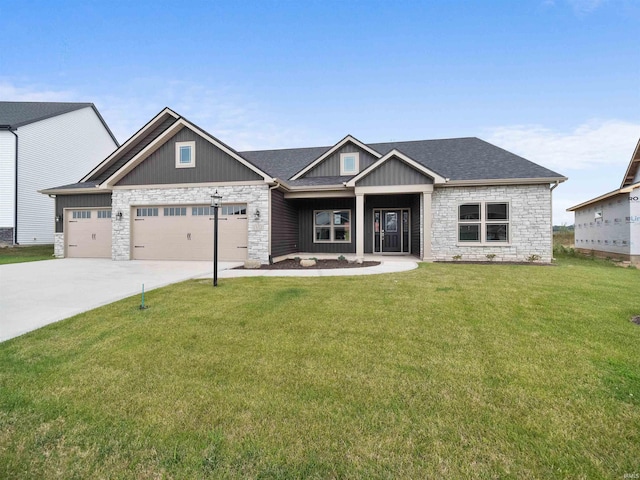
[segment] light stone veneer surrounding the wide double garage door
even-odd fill
[[[113,229],[111,257],[113,260],[131,259],[131,207],[159,205],[211,204],[211,195],[218,190],[222,203],[246,203],[248,222],[247,257],[261,263],[269,262],[269,186],[234,185],[222,187],[141,188],[114,190],[112,195]],[[255,218],[256,209],[260,217]],[[116,221],[118,212],[122,220]]]

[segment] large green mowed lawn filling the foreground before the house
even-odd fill
[[[623,478],[640,271],[189,281],[0,344],[0,478]]]

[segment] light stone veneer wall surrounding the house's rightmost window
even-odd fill
[[[537,255],[539,262],[552,258],[551,192],[549,185],[436,188],[432,196],[432,258],[451,261],[524,262]],[[473,202],[509,202],[510,243],[508,245],[465,245],[458,242],[458,205]]]

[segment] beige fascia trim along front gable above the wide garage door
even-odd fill
[[[111,187],[113,187],[118,180],[121,180],[127,173],[131,172],[135,167],[137,167],[140,163],[142,163],[144,160],[146,160],[149,155],[151,155],[158,148],[160,148],[162,145],[164,145],[165,142],[169,138],[171,138],[173,135],[175,135],[182,128],[188,128],[189,130],[194,132],[196,135],[201,136],[202,138],[207,140],[209,143],[215,145],[220,150],[222,150],[223,152],[227,153],[228,155],[233,157],[238,162],[242,163],[245,167],[249,168],[250,170],[252,170],[255,173],[257,173],[258,175],[260,175],[264,179],[265,182],[269,183],[269,182],[272,181],[272,178],[269,175],[267,175],[266,173],[261,171],[258,167],[254,166],[253,164],[251,164],[248,161],[246,161],[237,152],[235,152],[234,150],[231,150],[229,147],[227,147],[223,143],[219,142],[215,138],[207,135],[205,132],[203,132],[198,127],[193,125],[191,122],[185,120],[184,118],[179,118],[174,124],[172,124],[164,132],[162,132],[162,134],[158,138],[156,138],[153,142],[151,142],[144,149],[142,149],[136,156],[131,158],[131,160],[129,160],[126,164],[124,164],[122,167],[120,167],[120,169],[117,170],[116,172],[114,172],[113,175],[111,175],[109,178],[107,178],[100,185],[100,187],[101,188],[111,188]]]

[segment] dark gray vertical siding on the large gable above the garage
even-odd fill
[[[196,142],[195,167],[176,168],[176,142],[188,141]],[[166,185],[254,180],[262,180],[262,176],[185,127],[125,175],[117,185]]]

